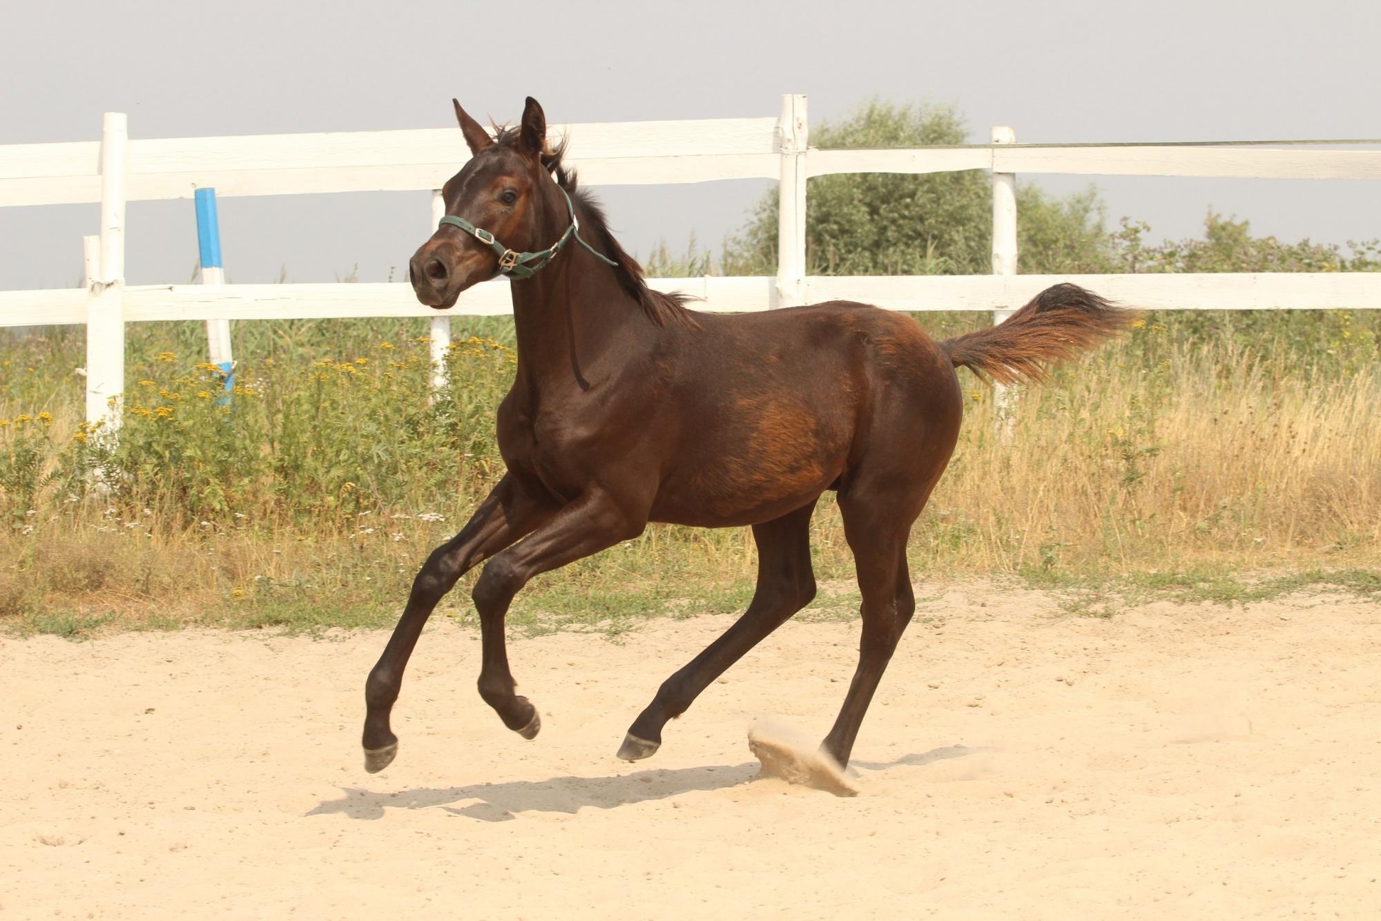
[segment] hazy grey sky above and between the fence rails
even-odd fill
[[[0,29],[0,144],[453,126],[450,98],[552,123],[775,116],[812,122],[870,97],[952,102],[974,141],[1381,137],[1381,4],[1313,3],[11,3]],[[1196,233],[1210,206],[1258,233],[1381,236],[1381,182],[1034,178],[1103,191],[1110,220]],[[718,249],[772,184],[606,186],[646,254],[692,232]],[[428,195],[222,199],[231,280],[384,280],[425,237]],[[97,206],[0,210],[0,290],[69,287]],[[185,282],[191,200],[130,206],[131,283]]]

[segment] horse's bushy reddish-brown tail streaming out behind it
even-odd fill
[[[997,326],[945,340],[954,367],[998,384],[1040,382],[1047,366],[1117,336],[1137,313],[1113,307],[1077,284],[1055,284]]]

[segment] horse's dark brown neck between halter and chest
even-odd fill
[[[565,232],[565,202],[558,202],[559,210],[548,200],[547,214],[561,214],[559,225],[547,221],[539,239]],[[512,283],[518,374],[529,387],[584,387],[588,369],[616,341],[620,351],[650,342],[657,327],[623,289],[616,272],[570,240],[545,268]]]

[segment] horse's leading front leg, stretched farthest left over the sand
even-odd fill
[[[407,659],[436,603],[464,573],[529,534],[558,508],[551,497],[505,474],[465,527],[434,550],[423,563],[403,616],[365,682],[365,770],[378,773],[398,754],[398,736],[389,726],[389,714],[402,688]]]

